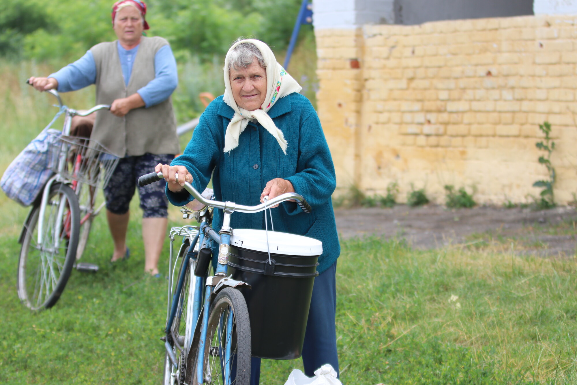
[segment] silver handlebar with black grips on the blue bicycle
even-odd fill
[[[162,172],[159,173],[151,172],[138,178],[138,186],[140,187],[147,186],[147,184],[158,182],[160,179],[164,179]],[[271,208],[272,206],[278,205],[279,203],[288,201],[289,199],[294,199],[295,201],[297,201],[297,204],[301,206],[301,209],[305,213],[310,213],[312,211],[312,209],[309,206],[309,203],[306,202],[305,198],[303,198],[301,194],[297,193],[285,193],[279,195],[278,197],[269,200],[266,203],[266,205],[265,203],[260,203],[260,205],[256,206],[245,206],[245,205],[237,205],[237,203],[234,202],[219,202],[205,199],[203,195],[198,193],[198,191],[196,191],[196,189],[192,187],[192,184],[188,182],[184,183],[184,188],[186,189],[186,191],[190,193],[190,195],[194,197],[194,199],[196,199],[200,203],[203,203],[203,205],[210,206],[216,209],[230,210],[231,212],[239,211],[241,213],[258,213],[266,208]]]

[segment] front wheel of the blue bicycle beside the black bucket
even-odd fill
[[[232,333],[231,333],[231,352],[230,359],[224,361],[222,358],[223,351],[226,350],[226,330],[228,312],[232,310]],[[196,346],[191,351],[190,357],[194,361],[188,363],[186,370],[187,383],[200,385],[197,379],[197,362],[198,354],[203,354],[203,377],[204,382],[208,384],[231,384],[231,385],[249,385],[250,384],[250,319],[248,308],[246,307],[245,298],[242,293],[235,288],[226,287],[221,290],[212,302],[211,310],[208,316],[207,343],[204,345],[204,351],[198,349],[201,328],[197,327],[194,342]],[[224,341],[224,342],[223,342]],[[225,348],[223,349],[223,345]],[[226,355],[226,354],[225,354]],[[228,362],[230,367],[225,369],[224,362]],[[226,379],[229,379],[226,381]]]

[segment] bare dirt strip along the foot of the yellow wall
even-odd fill
[[[433,249],[483,239],[515,239],[523,253],[541,256],[575,256],[577,210],[505,209],[482,206],[447,209],[426,205],[392,209],[335,209],[336,226],[342,238],[383,235],[406,239],[419,249]]]

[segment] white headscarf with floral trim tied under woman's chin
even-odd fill
[[[241,43],[253,43],[263,54],[264,62],[267,65],[267,95],[260,109],[254,111],[248,111],[239,107],[237,102],[234,101],[233,90],[230,87],[230,77],[228,74],[230,71],[228,69],[230,67],[229,60],[235,47]],[[233,119],[228,123],[226,134],[224,135],[224,152],[227,153],[238,146],[238,137],[245,131],[249,119],[256,119],[258,123],[262,124],[263,127],[275,137],[283,153],[286,155],[287,141],[284,140],[283,132],[276,127],[267,112],[275,105],[278,99],[293,92],[300,92],[302,87],[276,62],[275,54],[272,53],[268,45],[260,40],[246,39],[230,47],[224,60],[224,86],[224,102],[234,110]]]

